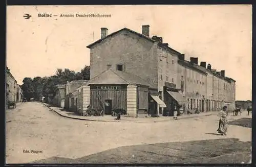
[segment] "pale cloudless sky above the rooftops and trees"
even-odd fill
[[[60,17],[76,13],[111,17]],[[100,28],[141,33],[142,25],[185,59],[198,57],[224,69],[237,81],[236,100],[251,100],[251,5],[7,6],[7,66],[18,84],[25,77],[54,75],[57,68],[77,72],[90,65],[86,46],[100,39]]]

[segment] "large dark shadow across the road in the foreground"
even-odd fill
[[[51,157],[31,163],[241,163],[251,142],[237,138],[125,146],[77,159]]]

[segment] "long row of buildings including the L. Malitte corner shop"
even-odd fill
[[[185,60],[162,37],[150,37],[148,25],[142,33],[123,28],[108,35],[101,28],[101,39],[87,47],[91,79],[62,85],[65,96],[56,102],[69,110],[81,113],[90,105],[106,114],[123,109],[130,116],[158,116],[172,115],[175,107],[204,112],[235,102],[236,81],[224,69],[199,64],[197,57]]]

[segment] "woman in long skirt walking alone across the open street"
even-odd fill
[[[227,124],[228,124],[228,121],[227,121],[227,106],[224,106],[219,114],[220,114],[219,115],[220,120],[219,120],[219,128],[218,128],[217,131],[221,135],[227,135]]]

